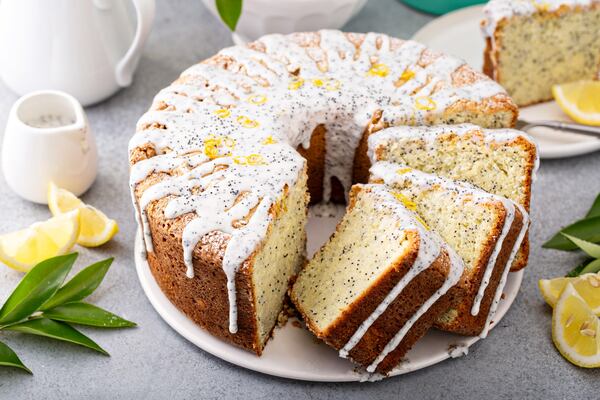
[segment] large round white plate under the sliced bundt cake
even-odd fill
[[[343,208],[340,207],[334,217],[309,218],[307,226],[309,255],[312,255],[329,238],[342,213]],[[262,357],[213,337],[171,304],[156,284],[148,263],[142,257],[141,250],[142,240],[138,232],[135,260],[138,277],[146,296],[173,329],[201,349],[241,367],[285,378],[344,382],[360,381],[368,377],[350,361],[339,358],[335,350],[291,321],[288,321],[283,328],[275,330],[274,337],[267,344]],[[496,323],[506,314],[517,296],[522,278],[522,271],[509,275],[504,289],[504,299],[498,306]],[[458,336],[432,330],[407,354],[408,361],[397,367],[391,375],[400,375],[436,364],[450,357],[450,348],[464,346],[466,349],[478,340],[478,337]]]

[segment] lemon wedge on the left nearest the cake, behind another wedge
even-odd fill
[[[102,211],[85,204],[77,196],[54,183],[48,187],[48,207],[52,215],[79,210],[81,230],[77,243],[85,247],[100,246],[117,234],[119,226]]]

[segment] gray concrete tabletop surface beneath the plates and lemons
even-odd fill
[[[345,27],[410,37],[430,16],[396,0],[371,0]],[[102,257],[115,263],[92,300],[139,324],[124,331],[84,329],[112,356],[17,334],[0,334],[34,376],[0,368],[1,399],[451,399],[598,398],[600,371],[566,362],[550,337],[551,313],[537,289],[541,277],[562,275],[581,258],[541,243],[585,214],[600,191],[600,153],[543,161],[535,188],[531,262],[512,309],[468,356],[374,384],[322,384],[273,378],[221,361],[187,342],[154,311],[133,264],[135,223],[127,189],[127,141],[154,94],[190,64],[230,45],[228,32],[199,0],[158,2],[154,31],[132,87],[87,110],[100,149],[100,173],[84,200],[116,218],[121,231],[95,250],[79,249],[79,266]],[[0,85],[0,127],[16,96]],[[0,232],[47,218],[0,178]],[[0,266],[0,299],[21,275]]]

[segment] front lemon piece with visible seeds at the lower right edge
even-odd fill
[[[552,313],[552,340],[573,364],[600,367],[600,322],[570,282]]]

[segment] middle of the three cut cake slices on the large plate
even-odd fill
[[[442,330],[487,335],[510,265],[528,226],[528,214],[512,201],[472,185],[379,162],[371,180],[383,182],[462,257],[463,301],[436,322]]]

